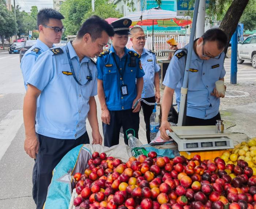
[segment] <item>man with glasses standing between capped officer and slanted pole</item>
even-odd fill
[[[141,55],[140,61],[145,72],[145,75],[143,76],[144,83],[141,98],[151,103],[160,102],[158,75],[160,67],[157,64],[157,57],[154,52],[144,48],[146,37],[142,28],[133,27],[130,32],[130,40],[132,42],[131,50],[134,50]],[[147,142],[150,143],[150,116],[154,106],[149,106],[144,102],[141,103],[141,106],[144,114],[144,121],[146,123]]]

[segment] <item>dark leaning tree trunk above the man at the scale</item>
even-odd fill
[[[221,25],[219,26],[219,29],[222,29],[227,35],[228,41],[224,50],[225,53],[227,53],[229,41],[236,30],[240,17],[242,16],[248,1],[249,0],[233,0],[221,22]]]

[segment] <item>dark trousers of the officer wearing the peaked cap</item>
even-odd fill
[[[139,112],[133,113],[132,109],[129,110],[109,110],[110,124],[102,122],[103,135],[104,135],[104,146],[111,147],[119,144],[119,133],[121,127],[124,131],[124,143],[128,145],[128,138],[126,131],[128,129],[135,130],[135,137],[138,138],[139,132]],[[133,134],[133,131],[129,131]]]

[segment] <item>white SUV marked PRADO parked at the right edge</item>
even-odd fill
[[[237,45],[237,64],[242,64],[244,60],[252,62],[252,67],[256,68],[256,34]]]

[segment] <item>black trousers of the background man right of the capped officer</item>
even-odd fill
[[[148,98],[143,98],[147,102],[153,103],[155,102],[155,97],[148,97]],[[150,143],[150,116],[153,112],[154,106],[146,105],[144,102],[141,102],[141,107],[144,115],[144,121],[146,123],[146,136],[147,136],[147,143]]]

